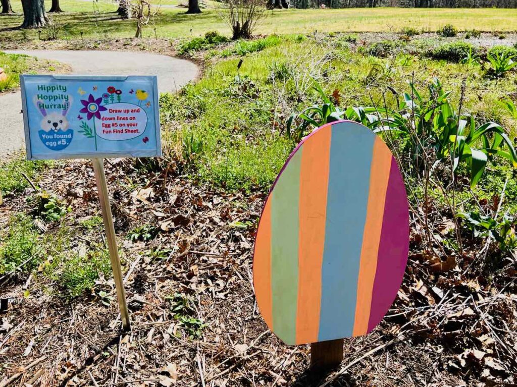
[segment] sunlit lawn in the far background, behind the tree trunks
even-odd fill
[[[185,15],[185,8],[170,8],[181,3],[165,0],[160,4],[160,13],[154,25],[144,35],[153,35],[156,26],[159,37],[180,38],[202,35],[209,30],[229,34],[229,28],[220,18],[215,2],[206,2],[208,8],[199,15]],[[67,11],[52,16],[61,29],[60,37],[83,36],[131,37],[134,21],[121,21],[113,13],[117,6],[107,1],[92,3],[82,0],[63,0]],[[20,5],[14,4],[20,12]],[[257,34],[290,34],[318,32],[398,32],[402,27],[412,26],[426,31],[435,31],[440,26],[452,24],[459,30],[478,29],[485,32],[517,30],[517,9],[412,9],[412,8],[352,8],[352,9],[290,9],[267,11],[267,18],[258,26]],[[5,28],[18,26],[22,17],[2,17]],[[192,32],[191,32],[192,30]],[[0,38],[34,38],[35,31],[22,33],[18,30],[2,32]]]

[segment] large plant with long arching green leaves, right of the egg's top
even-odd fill
[[[409,138],[410,153],[419,155],[422,148],[434,148],[437,162],[451,158],[453,171],[465,163],[470,172],[470,186],[481,178],[486,163],[495,156],[508,159],[517,166],[517,154],[503,127],[495,122],[476,126],[475,118],[458,113],[450,102],[450,91],[434,78],[429,85],[429,99],[424,99],[415,85],[409,83],[410,94],[405,92],[399,101],[399,110],[369,107],[369,126],[375,132],[390,131]],[[379,114],[380,117],[375,116]],[[371,117],[375,119],[371,119]],[[387,118],[385,118],[387,117]],[[394,132],[393,132],[394,131]],[[506,150],[501,149],[506,146]]]

